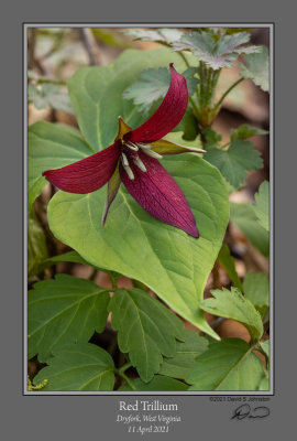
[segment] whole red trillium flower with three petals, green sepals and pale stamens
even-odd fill
[[[170,64],[170,86],[155,114],[132,130],[120,117],[114,143],[107,149],[43,175],[56,187],[86,194],[108,182],[103,224],[123,182],[129,193],[153,217],[199,237],[188,202],[169,173],[158,162],[163,155],[204,153],[162,139],[185,115],[188,104],[186,79]]]

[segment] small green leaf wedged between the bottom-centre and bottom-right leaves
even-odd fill
[[[197,332],[186,330],[185,342],[176,343],[174,357],[164,357],[160,374],[168,377],[186,379],[195,366],[195,358],[207,351],[208,341]]]

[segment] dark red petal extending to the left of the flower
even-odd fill
[[[91,193],[108,182],[116,169],[119,154],[118,144],[114,143],[74,164],[57,170],[47,170],[43,172],[43,175],[64,192]]]

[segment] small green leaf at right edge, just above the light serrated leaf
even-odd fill
[[[263,272],[248,272],[243,281],[243,292],[257,310],[261,311],[261,315],[265,315],[265,312],[270,305],[270,282]]]

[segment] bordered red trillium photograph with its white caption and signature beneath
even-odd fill
[[[273,24],[23,30],[24,395],[273,395]]]

